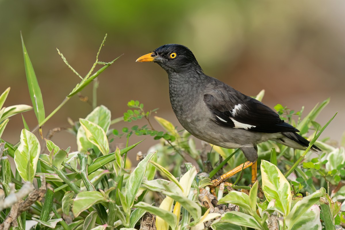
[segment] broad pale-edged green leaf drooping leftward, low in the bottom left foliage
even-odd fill
[[[107,199],[102,195],[101,192],[98,191],[82,191],[77,194],[77,197],[73,200],[73,215],[75,217],[79,216],[79,214],[90,208],[92,205],[106,202]]]

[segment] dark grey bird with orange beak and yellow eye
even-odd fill
[[[299,130],[280,119],[274,110],[207,76],[186,46],[165,44],[136,62],[156,62],[167,72],[172,110],[189,133],[210,144],[239,148],[244,153],[248,161],[213,180],[214,186],[249,166],[254,183],[257,144],[261,142],[273,140],[301,150],[309,146],[309,141],[297,133]],[[320,149],[313,145],[311,150]]]

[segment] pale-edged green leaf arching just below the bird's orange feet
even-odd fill
[[[226,194],[218,201],[218,204],[224,203],[236,204],[250,214],[253,214],[254,212],[254,210],[252,210],[252,208],[250,207],[249,196],[244,192],[229,191],[228,194]]]

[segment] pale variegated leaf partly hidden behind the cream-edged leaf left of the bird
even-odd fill
[[[111,113],[107,107],[102,105],[96,107],[85,119],[97,124],[107,133],[110,126]],[[80,126],[77,131],[77,145],[78,151],[87,151],[93,147],[93,144],[87,139],[85,130],[82,126]]]

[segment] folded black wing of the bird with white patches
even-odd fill
[[[239,93],[238,91],[235,92]],[[285,123],[279,115],[260,101],[245,96],[222,93],[215,90],[204,95],[204,102],[214,114],[214,121],[222,126],[258,132],[298,132],[296,128]],[[235,98],[239,96],[239,98]]]

